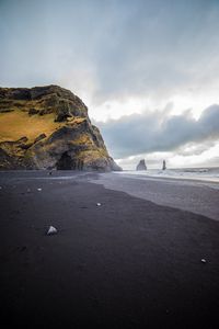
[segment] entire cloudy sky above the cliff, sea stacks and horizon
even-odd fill
[[[0,0],[0,86],[78,94],[124,168],[219,166],[218,0]]]

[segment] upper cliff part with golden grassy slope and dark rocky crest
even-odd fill
[[[49,136],[62,125],[80,124],[88,117],[84,103],[58,86],[0,88],[0,141],[39,134]]]

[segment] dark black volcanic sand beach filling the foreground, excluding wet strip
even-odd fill
[[[55,175],[0,174],[1,328],[219,328],[218,222]]]

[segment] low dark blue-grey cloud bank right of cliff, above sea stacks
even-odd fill
[[[173,151],[189,143],[208,147],[219,138],[219,105],[207,107],[197,121],[189,112],[172,116],[164,112],[146,112],[95,124],[115,158]]]

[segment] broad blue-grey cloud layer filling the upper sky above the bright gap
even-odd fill
[[[94,105],[211,88],[218,16],[217,0],[2,0],[0,83],[64,82]]]

